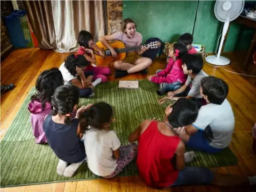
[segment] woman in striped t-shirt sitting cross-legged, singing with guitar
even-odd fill
[[[107,41],[118,40],[124,43],[126,47],[140,46],[142,44],[142,35],[136,31],[136,23],[132,19],[125,19],[122,22],[122,31],[112,35],[106,35],[99,38],[99,41],[106,46],[110,51],[113,58],[117,58],[115,50],[107,43]],[[147,73],[147,68],[152,64],[152,60],[146,57],[140,57],[148,48],[142,47],[137,52],[129,52],[122,61],[115,61],[114,68],[117,69],[115,78],[124,77],[131,73],[141,71]]]

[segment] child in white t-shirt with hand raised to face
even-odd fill
[[[84,72],[87,65],[90,64],[82,55],[69,55],[65,62],[61,64],[59,70],[64,79],[64,84],[73,84],[79,88],[80,97],[94,96],[94,87],[101,82],[101,78],[92,82],[93,73]]]

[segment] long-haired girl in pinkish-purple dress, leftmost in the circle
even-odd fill
[[[31,125],[36,143],[46,143],[43,122],[51,112],[51,97],[55,89],[63,85],[63,77],[58,68],[43,71],[36,81],[36,93],[32,95],[28,109],[31,113]]]

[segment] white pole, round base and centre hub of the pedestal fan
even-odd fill
[[[225,2],[223,4],[223,10],[227,11],[230,8],[231,8],[231,3],[230,2]],[[210,64],[213,64],[213,65],[219,65],[219,66],[228,65],[230,63],[230,60],[228,58],[220,56],[221,48],[223,46],[225,35],[227,33],[228,25],[229,25],[229,18],[226,19],[226,21],[224,23],[224,26],[223,26],[222,37],[221,37],[221,41],[220,41],[220,45],[219,45],[218,54],[207,56],[205,58],[206,62],[208,62]]]

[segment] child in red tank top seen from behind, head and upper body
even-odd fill
[[[190,104],[193,110],[191,118],[180,117],[184,115],[182,111],[186,104]],[[175,183],[179,170],[185,166],[185,146],[172,129],[193,123],[197,113],[198,109],[194,103],[182,98],[166,108],[164,121],[145,120],[130,134],[129,142],[139,141],[137,166],[142,180],[147,185],[164,188]]]

